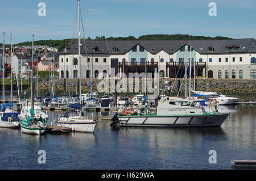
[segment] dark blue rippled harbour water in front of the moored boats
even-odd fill
[[[256,107],[232,113],[221,128],[110,128],[98,112],[94,133],[31,136],[0,128],[1,169],[233,169],[233,159],[256,159]],[[49,111],[51,122],[59,111]],[[38,163],[38,151],[46,163]],[[210,164],[209,150],[217,163]]]

